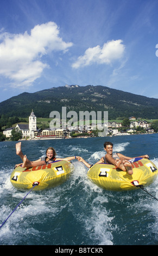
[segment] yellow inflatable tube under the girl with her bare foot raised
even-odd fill
[[[65,182],[73,170],[73,164],[60,160],[33,168],[16,167],[11,173],[11,184],[19,190],[45,190]]]

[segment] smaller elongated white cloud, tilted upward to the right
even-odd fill
[[[77,69],[80,66],[87,66],[94,63],[111,64],[115,60],[122,58],[125,50],[122,42],[122,40],[112,40],[106,42],[102,48],[99,45],[88,48],[84,56],[78,57],[77,61],[72,64],[72,67]]]

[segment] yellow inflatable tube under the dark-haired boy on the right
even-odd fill
[[[136,190],[139,186],[150,185],[156,179],[157,167],[150,160],[137,157],[130,162],[132,175],[107,163],[94,164],[87,175],[99,187],[112,191]]]

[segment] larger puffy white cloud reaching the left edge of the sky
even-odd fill
[[[13,87],[28,87],[48,68],[42,56],[52,51],[66,52],[73,44],[64,42],[54,22],[37,25],[30,34],[0,32],[0,75],[9,78]]]

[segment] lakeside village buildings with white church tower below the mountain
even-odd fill
[[[119,136],[129,135],[136,133],[153,133],[154,130],[150,128],[150,124],[146,120],[136,120],[135,117],[128,119],[128,125],[123,123],[117,123],[116,121],[108,122],[106,124],[108,135]],[[29,124],[17,124],[16,127],[10,127],[3,131],[3,135],[9,139],[12,135],[12,130],[16,129],[21,131],[22,139],[55,139],[55,138],[72,138],[72,137],[95,137],[97,132],[94,131],[96,124],[91,123],[89,126],[84,126],[83,130],[80,130],[79,126],[71,126],[69,130],[56,129],[51,130],[50,128],[41,130],[37,128],[36,116],[32,111],[29,116]],[[127,129],[128,128],[128,129]]]

